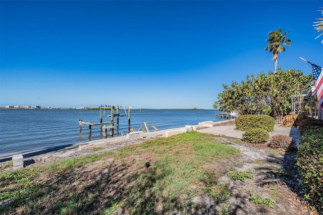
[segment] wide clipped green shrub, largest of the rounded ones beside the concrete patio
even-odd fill
[[[261,128],[265,131],[274,131],[275,119],[267,115],[242,115],[235,119],[237,130],[247,131]]]

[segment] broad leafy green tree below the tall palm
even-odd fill
[[[294,69],[247,75],[241,84],[222,84],[224,91],[218,94],[213,108],[240,115],[268,114],[279,120],[291,112],[291,96],[310,87],[312,80],[311,74]]]

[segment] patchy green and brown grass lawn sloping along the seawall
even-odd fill
[[[0,213],[188,212],[190,199],[228,198],[217,177],[239,156],[214,136],[188,132],[44,166],[0,172]],[[145,162],[151,166],[146,168]]]

